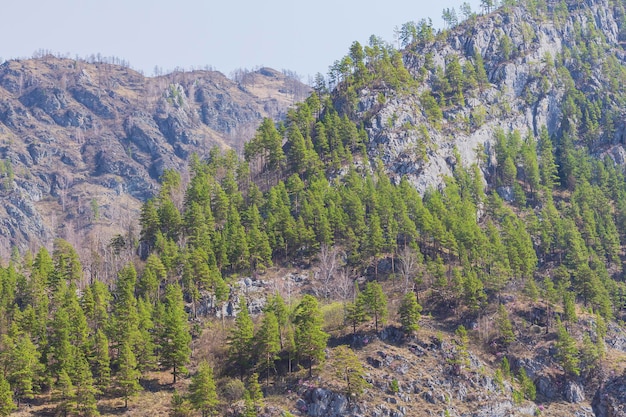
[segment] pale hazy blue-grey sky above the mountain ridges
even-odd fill
[[[0,57],[37,50],[71,57],[100,53],[130,62],[146,75],[155,66],[268,66],[307,81],[375,34],[393,40],[402,23],[458,11],[463,0],[4,0]],[[479,0],[469,0],[477,11]]]

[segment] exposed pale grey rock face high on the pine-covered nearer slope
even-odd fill
[[[547,3],[550,10],[557,4]],[[383,85],[359,92],[354,116],[366,120],[370,159],[380,157],[396,182],[406,176],[423,193],[452,175],[457,164],[469,166],[481,158],[486,161],[483,174],[488,176],[493,172],[492,144],[497,129],[507,132],[516,129],[522,137],[526,132],[536,136],[544,126],[549,134],[560,131],[566,87],[556,74],[550,73],[551,59],[573,46],[577,28],[597,28],[615,48],[617,59],[624,60],[624,51],[618,43],[620,18],[609,3],[608,0],[587,1],[584,6],[571,3],[569,15],[558,27],[551,19],[536,19],[523,7],[508,7],[478,17],[472,25],[451,29],[434,43],[409,47],[403,51],[405,65],[416,79],[423,80],[416,89],[410,94],[396,93]],[[513,45],[508,58],[500,47],[503,36]],[[490,85],[466,94],[461,104],[446,106],[443,120],[436,126],[427,117],[419,95],[435,91],[437,74],[446,73],[451,57],[458,57],[463,66],[475,62],[475,53],[485,63]],[[604,94],[602,68],[591,68],[586,80],[576,68],[568,69],[575,82],[586,83],[584,87],[577,86],[586,94]],[[479,113],[482,116],[477,116]],[[623,131],[618,126],[615,132],[606,132],[596,153],[622,163],[626,155],[620,133]],[[460,161],[456,161],[455,151]],[[505,193],[503,198],[507,197]]]

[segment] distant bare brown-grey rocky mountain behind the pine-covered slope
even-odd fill
[[[128,227],[165,169],[191,153],[241,149],[308,87],[269,68],[144,77],[46,56],[0,66],[0,255]],[[77,240],[78,242],[80,240]]]

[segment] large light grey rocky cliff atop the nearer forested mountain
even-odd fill
[[[487,162],[481,165],[489,176],[498,129],[522,137],[537,137],[543,127],[552,137],[574,132],[588,136],[593,153],[624,163],[622,83],[614,75],[625,68],[623,4],[519,4],[474,16],[432,39],[414,34],[402,56],[416,84],[408,92],[385,83],[358,92],[354,117],[366,121],[370,156],[380,157],[396,181],[407,176],[423,192],[451,175],[455,164],[478,160]],[[455,66],[464,77],[456,91]],[[476,87],[479,67],[487,80]],[[580,113],[572,114],[574,93],[595,103],[598,119],[612,117],[613,129],[584,127],[589,106],[573,99]],[[438,102],[442,117],[425,110],[425,94]]]

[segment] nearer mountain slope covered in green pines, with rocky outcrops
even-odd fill
[[[424,404],[465,415],[488,403],[418,391],[414,364],[381,376],[391,349],[396,362],[439,358],[419,372],[439,364],[454,386],[488,378],[488,396],[537,414],[585,401],[545,381],[592,397],[622,381],[626,67],[594,13],[606,9],[621,40],[626,3],[503,3],[464,9],[445,31],[406,23],[400,50],[355,42],[284,121],[263,120],[241,157],[215,148],[190,157],[188,176],[164,170],[140,235],[114,236],[106,262],[92,254],[85,268],[63,239],[15,253],[0,269],[0,415],[24,402],[42,415],[132,412],[161,391],[174,416],[422,415]],[[484,56],[429,55],[502,21],[517,32],[492,34]],[[498,93],[545,25],[567,43],[510,99]],[[538,113],[545,97],[556,120],[498,122]],[[450,175],[423,190],[398,175],[386,153],[398,132],[419,138],[397,153],[420,169],[450,149]],[[454,136],[475,132],[489,137],[468,158]],[[311,405],[319,387],[340,394],[340,414]],[[374,414],[383,398],[404,411]]]

